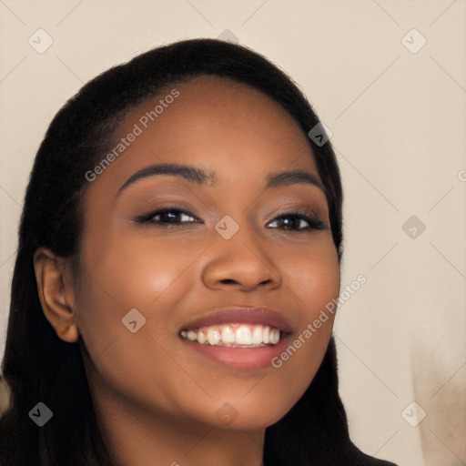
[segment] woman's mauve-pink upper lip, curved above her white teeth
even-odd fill
[[[263,306],[229,306],[228,308],[215,309],[199,319],[191,320],[183,326],[182,330],[228,323],[268,325],[284,333],[293,331],[288,319],[278,311]]]

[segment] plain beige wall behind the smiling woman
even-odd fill
[[[25,185],[58,108],[148,48],[234,35],[333,133],[343,288],[368,279],[335,327],[353,440],[400,466],[466,464],[465,13],[464,0],[0,2],[0,356]],[[38,28],[54,41],[43,54]],[[416,427],[412,401],[427,413]]]

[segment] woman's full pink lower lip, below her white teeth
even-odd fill
[[[289,344],[289,335],[280,339],[276,345],[258,348],[228,348],[201,344],[189,339],[179,337],[188,348],[198,351],[210,360],[215,360],[231,369],[258,370],[272,366],[272,360],[279,355]]]

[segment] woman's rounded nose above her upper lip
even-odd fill
[[[270,252],[248,235],[246,228],[229,239],[218,236],[208,248],[208,260],[202,279],[210,289],[257,288],[277,289],[281,284],[279,268],[270,258]]]

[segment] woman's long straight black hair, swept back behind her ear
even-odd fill
[[[89,186],[86,172],[112,147],[128,110],[167,86],[203,75],[228,77],[258,89],[279,103],[306,137],[319,124],[304,94],[278,66],[248,47],[215,39],[152,49],[96,76],[66,102],[39,147],[25,193],[2,366],[12,389],[13,409],[0,420],[1,464],[112,464],[98,431],[79,344],[59,339],[42,311],[33,254],[46,247],[78,264],[83,197]],[[318,146],[308,140],[325,187],[340,260],[339,167],[330,142]],[[53,420],[41,428],[29,419],[29,411],[40,401],[53,411]],[[349,440],[332,338],[309,389],[266,430],[264,461],[273,466],[349,466],[366,464],[368,459]]]

